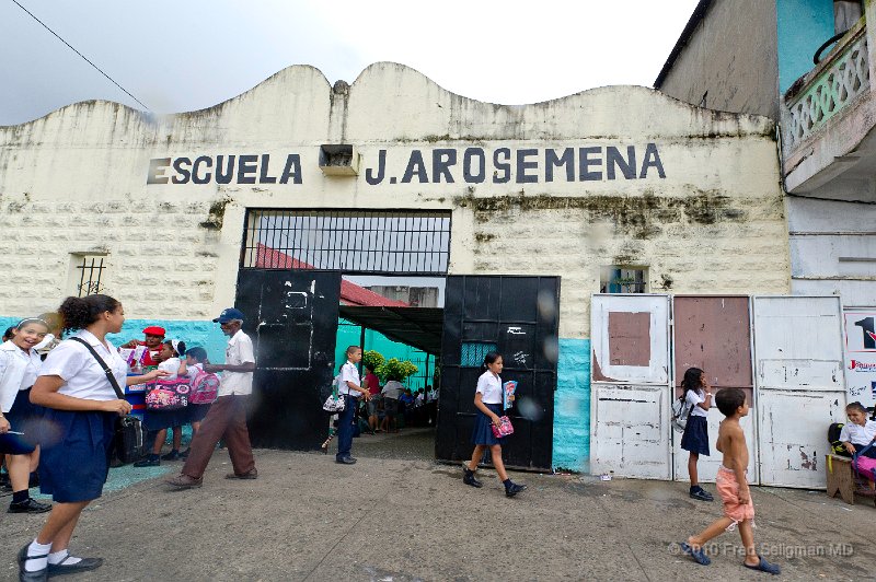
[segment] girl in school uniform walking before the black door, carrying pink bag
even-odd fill
[[[474,393],[474,406],[477,408],[474,431],[472,431],[474,451],[472,452],[472,459],[464,467],[462,482],[472,487],[483,487],[484,484],[475,478],[474,472],[477,470],[477,464],[481,462],[484,449],[489,447],[493,467],[505,486],[505,494],[514,497],[526,489],[527,486],[518,485],[508,477],[508,473],[505,470],[505,463],[502,461],[502,439],[497,439],[491,428],[491,424],[499,424],[499,415],[503,414],[502,377],[499,377],[502,368],[502,356],[495,351],[491,351],[484,357],[485,372],[477,379],[477,388]],[[514,396],[511,396],[512,398]]]

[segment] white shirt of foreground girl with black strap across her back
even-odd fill
[[[118,354],[118,348],[108,340],[106,344],[94,337],[94,334],[80,329],[73,337],[80,337],[94,348],[104,363],[113,371],[118,386],[124,391],[128,375],[128,364]],[[66,339],[51,350],[43,362],[41,376],[60,376],[64,385],[58,394],[82,398],[85,400],[115,400],[117,398],[113,386],[106,379],[103,368],[89,352],[85,346],[71,339]]]

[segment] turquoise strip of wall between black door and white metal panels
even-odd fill
[[[560,339],[553,465],[590,470],[590,340]]]

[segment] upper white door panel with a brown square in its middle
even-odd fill
[[[667,385],[668,322],[668,295],[595,294],[593,382]]]

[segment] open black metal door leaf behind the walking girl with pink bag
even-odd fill
[[[471,458],[474,392],[484,354],[516,380],[507,414],[515,432],[503,446],[509,467],[549,470],[553,449],[560,277],[450,276],[445,290],[441,388],[435,443],[442,461]]]

